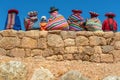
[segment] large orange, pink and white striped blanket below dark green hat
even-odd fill
[[[68,30],[69,25],[66,19],[58,14],[56,17],[51,16],[48,20],[47,30]]]

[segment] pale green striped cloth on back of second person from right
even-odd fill
[[[87,26],[88,31],[101,31],[102,30],[102,24],[98,18],[87,20],[86,26]]]

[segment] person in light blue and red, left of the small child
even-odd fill
[[[37,11],[28,12],[28,17],[24,20],[24,25],[27,30],[40,30],[40,21],[37,17]]]

